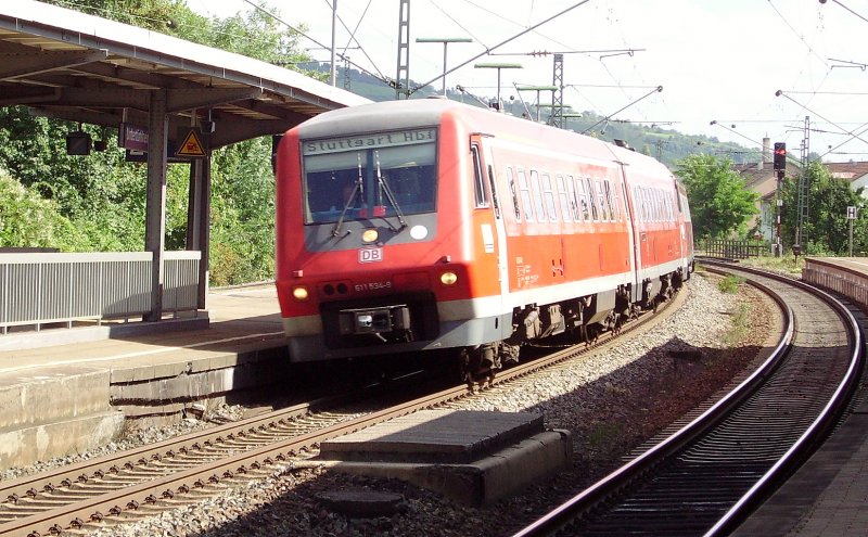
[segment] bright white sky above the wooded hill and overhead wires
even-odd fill
[[[186,1],[220,17],[263,5],[306,26],[303,47],[330,59],[328,0]],[[395,78],[399,0],[335,1],[337,50]],[[521,64],[500,71],[500,97],[534,103],[515,86],[550,86],[551,53],[564,52],[563,103],[576,112],[754,149],[769,138],[796,158],[807,146],[824,161],[868,161],[868,0],[410,0],[409,75],[423,84],[444,73],[444,50],[419,38],[471,38],[447,46],[446,71],[464,66],[446,84],[484,99],[497,94],[497,69],[475,64]]]

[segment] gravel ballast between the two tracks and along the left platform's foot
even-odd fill
[[[627,336],[591,357],[495,387],[456,409],[541,413],[549,429],[572,432],[572,468],[545,484],[486,508],[468,508],[396,480],[354,477],[321,469],[276,470],[268,478],[132,525],[105,526],[93,536],[500,536],[512,535],[622,463],[631,449],[714,394],[763,348],[770,306],[741,285],[724,294],[716,278],[694,274],[685,305],[641,336]],[[733,324],[741,327],[733,329]],[[218,409],[231,419],[238,409]],[[2,478],[129,448],[203,426],[137,432],[125,443],[68,460],[7,472]],[[374,490],[403,497],[397,514],[353,519],[317,500],[323,491]]]

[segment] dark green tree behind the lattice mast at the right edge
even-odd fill
[[[805,167],[805,177],[809,180],[808,218],[802,222],[800,241],[803,252],[809,254],[846,255],[850,252],[848,206],[859,207],[865,204],[863,189],[854,191],[843,179],[835,179],[829,169],[819,161]],[[799,179],[788,178],[782,186],[783,212],[781,215],[782,236],[790,244],[796,243],[799,226]],[[853,222],[853,251],[868,251],[868,214],[857,213]]]

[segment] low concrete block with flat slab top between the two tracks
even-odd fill
[[[324,442],[314,463],[487,506],[570,464],[570,433],[541,431],[541,420],[526,412],[418,412]]]

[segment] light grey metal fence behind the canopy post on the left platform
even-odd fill
[[[76,320],[129,319],[151,310],[150,252],[0,253],[0,331]],[[166,252],[163,310],[197,309],[201,252]]]

